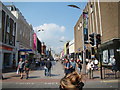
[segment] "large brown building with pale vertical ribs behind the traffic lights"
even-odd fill
[[[120,49],[119,9],[119,2],[88,2],[83,10],[88,15],[87,35],[89,37],[90,34],[94,34],[96,40],[96,35],[100,34],[101,44],[98,45],[97,49],[95,40],[93,46],[84,43],[84,19],[82,14],[74,27],[75,52],[83,52],[83,48],[85,48],[87,58],[91,58],[94,54],[99,59],[99,55],[101,55],[104,64],[109,64],[110,58],[115,57],[116,65],[119,67],[120,53],[117,51]],[[90,42],[89,38],[88,42]]]

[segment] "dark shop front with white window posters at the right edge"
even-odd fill
[[[102,64],[110,65],[111,58],[116,60],[117,69],[120,70],[120,39],[113,39],[109,42],[103,43],[99,48],[99,54],[101,54]]]

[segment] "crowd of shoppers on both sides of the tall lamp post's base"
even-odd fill
[[[64,62],[62,60],[62,63],[64,65],[65,75],[72,73],[74,71],[77,71],[79,74],[81,73],[82,60],[65,58]],[[98,70],[98,60],[96,58],[86,59],[86,73],[91,74],[91,77],[92,77],[93,70]]]

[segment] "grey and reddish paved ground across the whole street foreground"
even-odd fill
[[[38,68],[37,70],[30,71],[29,79],[26,80],[25,76],[21,80],[20,76],[16,72],[5,73],[5,79],[2,80],[2,88],[59,88],[59,82],[64,77],[63,65],[60,62],[52,67],[51,77],[44,76],[44,69]],[[84,88],[115,88],[118,90],[119,80],[101,80],[83,79]]]

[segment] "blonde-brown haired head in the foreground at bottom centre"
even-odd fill
[[[72,72],[60,80],[60,90],[82,90],[84,83],[82,75]]]

